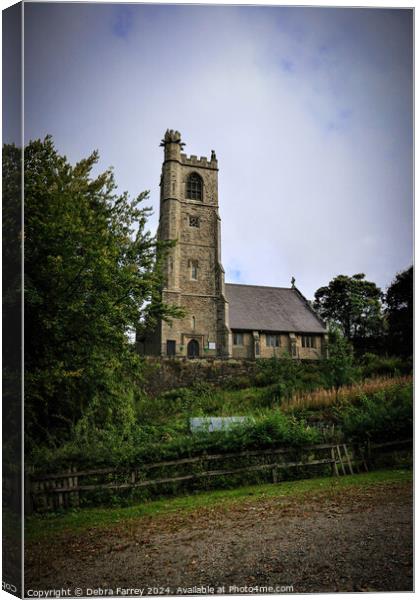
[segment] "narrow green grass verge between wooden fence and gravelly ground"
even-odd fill
[[[277,485],[252,485],[233,490],[214,490],[177,498],[153,500],[127,508],[86,508],[65,513],[33,515],[26,519],[25,541],[37,541],[60,533],[82,532],[89,528],[106,528],[114,524],[144,517],[164,517],[178,512],[191,512],[201,508],[223,505],[229,507],[242,502],[255,502],[280,496],[295,496],[318,492],[334,492],[350,487],[367,487],[384,484],[408,483],[412,471],[388,469],[346,475],[342,477],[317,477],[298,481],[285,481]]]

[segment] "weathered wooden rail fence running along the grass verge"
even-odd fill
[[[270,448],[266,450],[245,450],[234,453],[200,455],[177,460],[141,464],[130,468],[102,468],[78,470],[73,467],[58,474],[29,474],[30,506],[27,512],[49,511],[57,508],[77,507],[83,494],[89,492],[134,490],[136,488],[156,488],[164,484],[179,484],[188,481],[224,477],[240,473],[271,471],[273,483],[281,479],[282,471],[293,468],[329,466],[335,476],[352,474],[354,471],[368,470],[372,454],[380,449],[404,447],[412,440],[348,446],[340,444],[316,444],[301,448]],[[239,467],[217,467],[219,462],[246,461]],[[255,461],[256,464],[255,464]],[[179,469],[188,471],[179,473]],[[169,476],[156,477],[153,471],[173,470]],[[92,482],[93,481],[93,482]],[[211,486],[209,486],[211,487]]]

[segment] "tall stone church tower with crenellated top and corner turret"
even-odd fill
[[[186,315],[161,321],[153,354],[229,356],[228,303],[221,264],[218,166],[214,151],[187,157],[178,131],[162,140],[158,239],[176,240],[164,266],[163,301]],[[153,351],[154,350],[154,351]]]

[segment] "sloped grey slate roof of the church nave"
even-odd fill
[[[325,333],[322,322],[293,288],[227,283],[231,329]]]

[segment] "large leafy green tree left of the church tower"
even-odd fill
[[[5,148],[8,152],[8,148]],[[121,431],[134,419],[142,361],[127,336],[161,302],[166,245],[149,208],[117,195],[98,153],[71,166],[51,137],[25,148],[25,423],[29,442],[63,441],[83,415]]]

